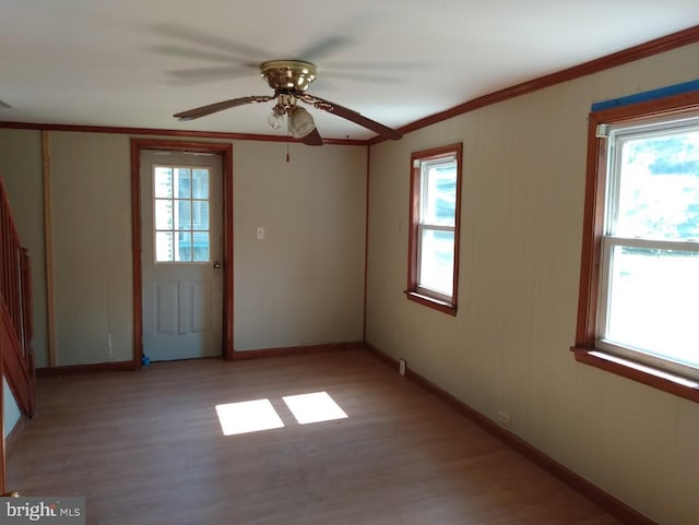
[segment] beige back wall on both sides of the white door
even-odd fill
[[[34,255],[42,367],[48,359],[40,133],[0,133],[0,169]],[[57,365],[132,359],[130,138],[49,138]],[[286,163],[285,144],[234,144],[236,349],[363,336],[367,148],[289,151]],[[265,228],[262,241],[258,227]]]

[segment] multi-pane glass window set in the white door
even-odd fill
[[[153,168],[155,262],[209,262],[209,169]]]

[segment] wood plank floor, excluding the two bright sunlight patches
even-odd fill
[[[283,396],[347,418],[299,425]],[[99,525],[618,525],[364,350],[154,363],[38,383],[8,489],[84,496]],[[224,435],[215,406],[284,427]]]

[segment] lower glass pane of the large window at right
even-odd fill
[[[605,339],[699,367],[699,253],[615,247]]]

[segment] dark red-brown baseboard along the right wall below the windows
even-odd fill
[[[393,359],[388,354],[379,350],[368,343],[365,344],[365,348],[377,359],[383,361],[386,365],[398,371],[399,361],[396,359]],[[588,481],[585,478],[574,473],[570,468],[561,465],[553,457],[546,455],[544,452],[540,451],[531,443],[503,429],[488,417],[470,407],[461,399],[454,397],[419,373],[411,370],[410,368],[406,368],[405,377],[420,385],[429,393],[439,397],[447,404],[451,405],[454,409],[457,409],[457,411],[459,411],[459,414],[478,425],[484,430],[514,449],[528,460],[532,461],[540,467],[556,476],[558,479],[576,489],[578,492],[606,510],[615,517],[630,525],[657,525],[655,522],[644,516],[637,510],[616,499],[614,496],[604,491],[596,485]]]

